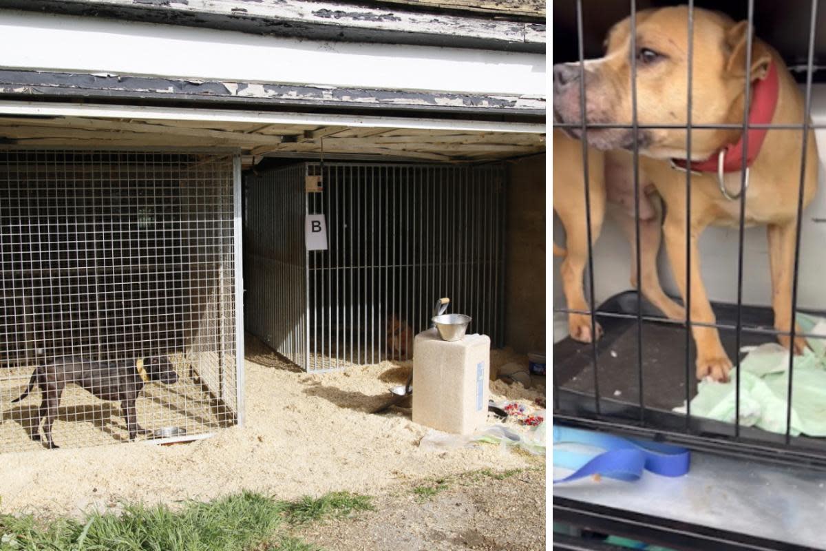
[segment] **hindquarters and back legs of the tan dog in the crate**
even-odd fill
[[[572,140],[563,131],[553,132],[553,211],[565,228],[565,249],[553,245],[554,256],[564,256],[560,267],[567,307],[587,311],[588,302],[582,288],[582,275],[588,261],[588,235],[585,205],[585,173],[582,170],[582,143]],[[633,157],[624,151],[588,150],[589,202],[591,203],[591,242],[599,238],[606,207],[622,227],[631,245],[631,285],[637,287],[636,227],[634,224]],[[659,212],[649,196],[651,186],[643,173],[639,174],[639,240],[642,256],[640,287],[643,296],[666,316],[681,319],[686,316],[662,291],[657,276],[657,252],[660,246]],[[595,323],[596,338],[601,336]],[[591,342],[591,316],[568,314],[568,332],[574,340]]]

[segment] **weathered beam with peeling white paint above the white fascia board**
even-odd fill
[[[309,0],[5,0],[2,7],[270,36],[543,53],[545,26]],[[503,16],[499,16],[500,18]]]

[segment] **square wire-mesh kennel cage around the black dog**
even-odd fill
[[[148,430],[240,422],[239,229],[232,151],[0,151],[0,452],[40,448],[40,392],[12,400],[61,356],[168,356],[178,382],[137,401]],[[74,385],[53,434],[61,447],[128,439],[119,404]]]

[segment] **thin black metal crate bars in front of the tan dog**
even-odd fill
[[[790,169],[795,171],[795,178],[799,177],[799,190],[797,190],[796,198],[796,219],[795,219],[795,255],[794,255],[794,266],[792,267],[791,264],[789,266],[790,272],[794,273],[794,277],[791,278],[791,305],[790,305],[790,317],[794,319],[795,312],[799,310],[805,311],[805,308],[799,309],[797,304],[798,299],[798,288],[800,282],[798,281],[798,268],[800,264],[800,235],[802,231],[801,223],[803,221],[803,205],[804,205],[804,188],[805,182],[807,178],[810,176],[809,170],[807,170],[807,156],[812,154],[812,144],[811,142],[814,140],[813,130],[816,128],[822,128],[823,125],[814,124],[810,120],[810,115],[812,111],[812,83],[813,83],[813,75],[814,70],[816,69],[814,63],[814,47],[816,45],[816,35],[818,32],[818,2],[805,2],[805,17],[808,17],[808,35],[805,35],[807,40],[808,48],[806,50],[806,73],[805,73],[805,88],[804,88],[804,110],[803,116],[800,118],[800,121],[793,121],[793,123],[783,123],[783,124],[752,124],[749,122],[749,111],[748,108],[743,110],[742,120],[738,121],[737,123],[721,123],[721,124],[708,124],[708,123],[698,123],[692,120],[692,107],[694,107],[693,97],[692,97],[692,83],[695,80],[695,75],[692,74],[692,63],[691,57],[694,54],[694,50],[696,48],[695,40],[693,40],[693,32],[695,31],[695,7],[694,2],[689,0],[687,6],[687,18],[686,18],[686,25],[687,25],[687,52],[688,52],[688,63],[686,64],[686,82],[688,86],[686,88],[686,108],[687,108],[687,120],[685,124],[667,124],[667,123],[658,123],[657,121],[646,121],[646,124],[640,123],[637,117],[637,60],[635,55],[630,56],[629,61],[629,72],[630,72],[630,120],[621,120],[621,121],[588,121],[586,117],[586,105],[587,105],[587,93],[590,90],[586,90],[586,59],[584,53],[584,44],[586,42],[586,38],[583,36],[583,29],[585,28],[584,25],[584,18],[587,17],[587,13],[585,7],[587,7],[582,0],[574,0],[575,16],[576,16],[576,29],[577,29],[577,36],[571,36],[571,40],[576,40],[577,45],[577,54],[578,59],[575,60],[575,64],[577,67],[577,78],[579,78],[578,83],[572,83],[572,86],[576,86],[579,90],[578,96],[578,107],[579,107],[579,119],[569,120],[567,122],[558,122],[555,121],[553,123],[554,128],[568,128],[568,129],[576,129],[581,133],[582,136],[587,135],[587,131],[589,129],[625,129],[629,131],[629,134],[633,136],[633,142],[629,145],[629,150],[631,150],[634,156],[634,196],[638,197],[638,188],[639,188],[639,173],[638,173],[638,162],[639,162],[639,135],[642,131],[648,130],[667,130],[667,129],[686,129],[686,158],[691,159],[691,151],[692,151],[692,135],[696,136],[698,131],[709,131],[712,129],[738,129],[743,131],[743,163],[745,163],[747,159],[747,152],[748,152],[748,130],[754,128],[767,128],[770,130],[784,130],[788,131],[789,139],[795,140],[800,143],[800,167],[796,164]],[[637,23],[637,16],[638,16],[638,6],[637,2],[634,0],[629,0],[628,2],[628,11],[626,12],[629,15],[629,25],[631,26],[631,31],[629,32],[629,43],[630,49],[636,51],[636,41],[637,41],[637,33],[634,31],[636,23]],[[759,6],[759,4],[758,4]],[[699,9],[699,8],[698,8]],[[745,14],[744,19],[748,21],[748,32],[745,34],[745,63],[744,63],[744,83],[743,83],[743,99],[744,105],[749,106],[751,101],[752,95],[752,87],[751,83],[751,75],[752,75],[752,44],[754,40],[757,40],[753,36],[753,21],[755,17],[755,2],[753,0],[747,0],[743,2],[743,12]],[[573,43],[573,42],[572,42]],[[582,311],[582,309],[570,309],[570,308],[559,308],[554,307],[554,312],[566,312],[566,313],[580,313],[586,314],[591,316],[591,335],[596,333],[596,321],[597,318],[604,321],[615,321],[619,322],[622,321],[624,324],[623,327],[629,327],[630,330],[636,330],[636,348],[634,349],[634,359],[629,359],[630,362],[633,362],[634,368],[636,373],[635,377],[638,380],[634,381],[635,389],[634,391],[638,393],[638,399],[634,398],[634,404],[627,404],[629,408],[627,411],[634,411],[633,416],[636,417],[633,420],[629,416],[622,416],[618,418],[616,416],[617,408],[615,405],[610,405],[608,410],[612,413],[606,413],[605,401],[610,401],[610,395],[605,395],[604,392],[601,392],[601,386],[603,379],[605,378],[605,368],[602,368],[599,363],[605,363],[605,357],[600,357],[601,354],[604,352],[600,345],[596,342],[592,342],[591,344],[583,344],[582,350],[578,352],[578,354],[582,354],[583,361],[586,363],[586,368],[591,369],[591,373],[588,373],[585,377],[587,378],[587,386],[589,387],[588,392],[582,394],[581,396],[577,396],[577,400],[582,403],[577,403],[577,409],[572,410],[570,408],[572,401],[572,393],[569,392],[570,389],[560,387],[560,381],[554,374],[553,379],[553,402],[554,402],[554,411],[558,416],[570,416],[571,418],[581,417],[582,419],[590,419],[590,420],[601,420],[605,422],[616,422],[619,425],[629,425],[634,424],[638,426],[648,427],[652,430],[657,431],[657,434],[667,434],[669,436],[675,435],[679,430],[676,429],[675,426],[669,424],[668,426],[659,425],[654,420],[660,420],[662,416],[660,415],[662,411],[655,411],[655,409],[648,405],[647,401],[650,399],[651,394],[650,392],[646,392],[648,388],[652,385],[652,379],[650,376],[643,380],[643,359],[644,357],[644,350],[643,349],[643,327],[645,325],[670,325],[672,327],[680,327],[684,330],[684,335],[681,335],[680,340],[683,341],[681,344],[684,346],[685,349],[685,369],[684,373],[681,373],[680,380],[675,380],[674,383],[679,383],[681,387],[684,388],[685,400],[686,400],[686,412],[684,415],[681,415],[680,423],[682,425],[681,431],[686,435],[695,434],[698,430],[698,426],[702,425],[704,427],[708,427],[709,425],[705,424],[704,420],[698,420],[695,417],[695,412],[691,411],[690,402],[691,397],[693,396],[692,393],[692,384],[695,382],[695,374],[694,374],[694,340],[691,335],[692,330],[699,330],[700,328],[714,328],[717,330],[726,330],[729,331],[730,335],[733,335],[733,349],[740,350],[741,345],[746,342],[753,342],[755,335],[765,335],[768,338],[770,337],[777,337],[777,336],[787,336],[789,337],[790,341],[793,343],[796,336],[804,336],[807,338],[822,338],[822,335],[809,335],[802,333],[798,327],[795,326],[794,323],[791,324],[790,330],[779,330],[776,328],[772,328],[771,325],[756,325],[752,321],[747,321],[746,318],[743,318],[743,310],[748,309],[748,306],[743,305],[743,278],[747,275],[747,270],[744,266],[744,230],[746,227],[746,194],[745,192],[738,194],[737,197],[733,197],[735,202],[733,203],[734,207],[737,209],[738,216],[734,218],[736,223],[736,227],[738,228],[738,251],[737,251],[737,298],[735,305],[736,311],[733,316],[731,316],[730,320],[727,321],[697,321],[692,319],[691,316],[691,302],[692,300],[696,300],[696,297],[691,296],[691,269],[686,269],[686,273],[676,274],[676,278],[678,278],[679,284],[685,284],[686,291],[684,297],[684,306],[686,307],[686,319],[680,321],[670,321],[663,319],[659,316],[652,316],[648,312],[643,312],[642,304],[643,302],[639,301],[636,302],[634,308],[635,311],[624,311],[619,313],[618,311],[599,311],[596,310],[595,304],[595,283],[594,283],[594,260],[593,260],[593,250],[592,250],[592,238],[591,238],[591,201],[592,197],[590,197],[590,187],[587,185],[589,178],[591,178],[591,174],[588,171],[588,147],[586,144],[586,140],[582,138],[582,156],[584,158],[583,167],[582,167],[582,175],[586,181],[585,186],[585,203],[586,203],[586,211],[584,213],[585,218],[585,227],[578,229],[583,232],[583,234],[587,235],[587,244],[588,244],[588,259],[587,259],[587,273],[585,276],[585,283],[586,283],[586,292],[587,296],[589,297],[591,307],[589,310]],[[809,161],[811,159],[808,159]],[[799,171],[799,173],[798,173]],[[692,186],[692,178],[696,178],[695,174],[691,172],[691,162],[688,163],[688,169],[686,170],[685,176],[686,188],[685,188],[685,197],[686,197],[686,221],[685,221],[685,233],[686,233],[686,240],[684,244],[685,250],[685,259],[686,259],[686,266],[692,265],[692,257],[697,254],[697,249],[692,248],[691,240],[688,238],[688,235],[691,235],[692,232],[692,215],[691,215],[691,204],[692,204],[692,192],[694,191],[695,185]],[[738,178],[740,182],[740,188],[745,190],[747,186],[747,173],[745,171],[740,173]],[[734,184],[733,184],[734,186]],[[631,259],[637,267],[637,273],[640,271],[640,257],[639,257],[639,244],[640,244],[640,236],[639,236],[639,205],[638,202],[634,204],[634,214],[635,214],[635,231],[634,235],[632,236],[632,241],[636,242],[636,250],[637,254],[635,255],[634,259]],[[694,282],[696,283],[696,282]],[[640,284],[638,282],[637,288],[635,291],[637,292],[637,296],[641,294]],[[555,305],[556,306],[556,305]],[[635,327],[633,325],[635,325]],[[652,346],[653,344],[646,343],[646,346]],[[631,347],[629,347],[629,350]],[[584,354],[586,354],[587,358],[585,359]],[[630,356],[629,356],[630,358]],[[738,353],[735,353],[731,356],[733,360],[733,369],[736,370],[739,368],[741,357]],[[822,445],[814,445],[814,451],[810,449],[811,442],[807,439],[801,438],[793,438],[791,436],[791,416],[792,416],[792,400],[794,396],[792,395],[792,382],[795,378],[795,368],[793,364],[793,358],[790,354],[789,358],[789,368],[788,368],[788,382],[787,382],[787,392],[786,392],[786,425],[784,427],[785,435],[783,435],[784,439],[784,446],[776,446],[773,449],[777,451],[776,459],[780,460],[781,454],[786,454],[790,450],[798,450],[798,449],[806,449],[807,454],[814,455],[819,458],[824,457],[824,446]],[[584,384],[584,383],[583,383]],[[577,391],[578,392],[578,391]],[[682,391],[681,391],[682,392]],[[759,442],[762,439],[761,435],[755,435],[753,430],[748,430],[748,427],[742,426],[740,423],[740,407],[741,407],[741,388],[739,384],[739,378],[737,384],[734,386],[735,392],[735,412],[734,412],[734,419],[732,420],[730,425],[726,425],[725,427],[721,427],[719,425],[714,426],[714,430],[710,430],[705,432],[702,435],[703,439],[720,439],[720,438],[733,438],[738,443],[742,443],[744,446],[752,446],[756,449],[756,442]],[[564,396],[563,396],[564,395]],[[589,402],[589,403],[585,403]],[[632,407],[633,406],[633,407]],[[587,414],[585,413],[587,411]],[[627,412],[626,411],[626,412]],[[675,414],[676,416],[676,414]],[[669,419],[669,423],[671,423],[671,419]],[[730,430],[729,430],[730,429]],[[729,434],[730,433],[730,434]],[[746,435],[748,434],[748,436]],[[767,436],[767,439],[771,439]],[[773,444],[777,444],[772,440]]]

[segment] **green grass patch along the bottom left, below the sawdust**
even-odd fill
[[[132,505],[121,515],[48,523],[31,515],[0,515],[0,551],[316,551],[279,529],[371,508],[368,497],[344,492],[292,502],[244,492],[180,511]]]

